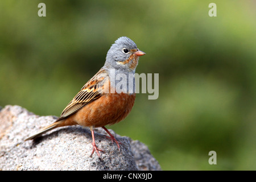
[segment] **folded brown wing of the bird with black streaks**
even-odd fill
[[[60,115],[60,118],[57,120],[61,120],[65,117],[68,117],[71,114],[76,113],[76,111],[80,110],[86,104],[97,100],[103,94],[104,82],[106,81],[106,77],[108,74],[104,69],[100,69],[96,75],[94,75],[80,90],[79,93],[73,98],[71,102],[65,107],[63,112]]]

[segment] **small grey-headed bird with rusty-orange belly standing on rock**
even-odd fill
[[[81,88],[71,102],[65,107],[60,117],[51,125],[25,140],[40,137],[49,130],[61,126],[82,125],[90,128],[93,151],[99,151],[94,140],[94,128],[102,127],[110,135],[120,150],[118,141],[106,129],[122,121],[130,113],[135,101],[134,73],[139,56],[145,55],[137,48],[133,40],[122,36],[110,47],[104,66]],[[121,78],[119,78],[121,76]],[[117,82],[118,79],[127,84]],[[117,88],[118,86],[118,88]],[[104,152],[104,151],[102,151]]]

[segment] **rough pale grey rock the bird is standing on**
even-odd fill
[[[161,170],[147,146],[138,140],[121,137],[117,145],[105,137],[104,129],[95,129],[97,147],[105,152],[92,156],[90,130],[76,125],[59,127],[36,140],[24,139],[56,117],[39,116],[20,106],[7,105],[0,110],[0,170]]]

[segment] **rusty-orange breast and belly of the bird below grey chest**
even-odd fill
[[[77,111],[70,119],[82,126],[113,125],[124,119],[134,105],[135,93],[105,93]]]

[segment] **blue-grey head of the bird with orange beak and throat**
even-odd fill
[[[115,69],[118,72],[134,73],[139,56],[144,54],[144,52],[139,51],[133,40],[122,36],[115,40],[115,43],[110,47],[106,55],[104,68]]]

